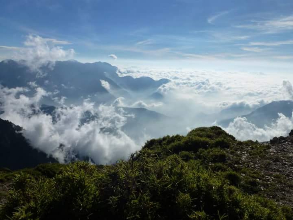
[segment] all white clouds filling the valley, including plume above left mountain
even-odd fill
[[[25,47],[12,58],[37,72],[36,77],[42,77],[46,74],[42,72],[42,65],[54,68],[56,60],[73,57],[74,50],[64,50],[58,46],[60,43],[66,44],[29,35]],[[168,129],[168,133],[175,134],[186,133],[201,125],[217,125],[217,121],[198,123],[198,115],[201,113],[216,114],[231,107],[241,107],[244,112],[252,111],[271,101],[293,99],[289,80],[263,72],[120,67],[118,73],[121,76],[167,78],[171,82],[159,87],[157,92],[163,95],[160,100],[125,99],[115,94],[117,99],[110,104],[98,104],[85,99],[81,105],[64,105],[66,97],[59,97],[54,91],[45,91],[34,82],[30,82],[28,87],[1,86],[0,110],[4,113],[0,117],[23,127],[23,135],[33,147],[54,156],[60,162],[70,161],[79,155],[88,156],[95,163],[109,164],[127,158],[151,138],[144,134],[142,140],[137,141],[127,136],[122,127],[133,116],[117,106],[144,107],[165,114],[174,119],[173,130],[170,133]],[[107,81],[101,83],[110,93],[113,92]],[[54,114],[45,114],[40,110],[44,98],[50,98],[59,105]],[[81,123],[87,114],[95,117]],[[279,114],[275,122],[263,128],[258,128],[246,118],[237,117],[224,129],[239,140],[268,141],[274,136],[286,136],[292,128],[293,118]]]

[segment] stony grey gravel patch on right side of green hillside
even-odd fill
[[[230,164],[255,181],[258,194],[293,207],[293,130],[287,137],[243,146],[231,153]]]

